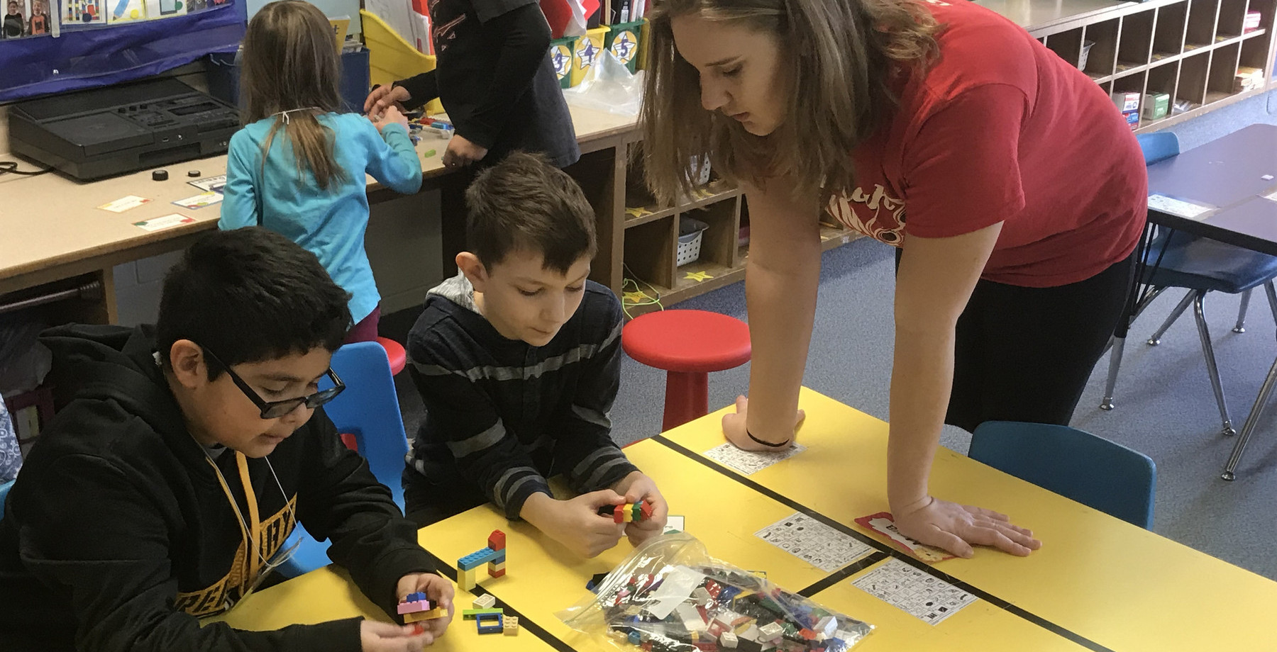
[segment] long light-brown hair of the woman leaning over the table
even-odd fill
[[[770,135],[701,106],[700,75],[670,27],[695,14],[776,36],[792,82],[785,120]],[[940,26],[919,0],[655,0],[649,20],[644,174],[667,203],[691,191],[688,162],[706,153],[732,181],[761,186],[788,175],[794,196],[854,188],[850,152],[894,103],[893,61],[925,70],[940,50]]]

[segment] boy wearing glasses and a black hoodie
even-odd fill
[[[45,333],[63,408],[0,521],[0,649],[372,652],[443,633],[451,583],[318,410],[345,388],[328,364],[347,299],[314,254],[253,227],[186,250],[155,327]],[[291,552],[299,519],[388,614],[420,591],[450,616],[200,628]]]

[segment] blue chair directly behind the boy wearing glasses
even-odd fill
[[[332,355],[332,370],[346,383],[342,392],[324,406],[328,419],[338,433],[355,436],[359,454],[368,459],[373,475],[389,487],[400,509],[404,509],[404,456],[407,454],[407,435],[404,416],[398,408],[395,379],[386,357],[386,350],[377,342],[355,342],[338,348]],[[328,542],[315,541],[298,523],[283,544],[287,550],[301,541],[292,556],[280,565],[280,573],[296,577],[329,564]]]

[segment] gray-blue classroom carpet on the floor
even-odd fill
[[[1253,122],[1277,124],[1277,93],[1222,108],[1172,130],[1189,149]],[[893,253],[857,241],[824,256],[816,329],[805,384],[870,415],[888,416],[891,370]],[[1235,482],[1220,480],[1232,447],[1220,435],[1218,411],[1207,379],[1191,315],[1180,319],[1162,345],[1143,345],[1177,302],[1167,292],[1135,323],[1117,385],[1117,410],[1098,410],[1107,359],[1091,378],[1074,426],[1144,452],[1157,463],[1154,531],[1220,559],[1277,579],[1277,406],[1251,439]],[[1230,329],[1237,297],[1212,295],[1207,319],[1232,419],[1240,429],[1268,366],[1277,355],[1272,316],[1263,293],[1254,296],[1248,332]],[[737,283],[682,302],[744,319],[744,286]],[[404,341],[415,310],[382,319],[382,334]],[[397,379],[411,434],[421,404],[407,374]],[[711,410],[729,404],[748,385],[748,365],[710,375]],[[1274,401],[1277,402],[1277,401]],[[660,430],[664,373],[626,359],[613,410],[616,439],[628,443]],[[969,435],[946,427],[941,443],[965,452]]]

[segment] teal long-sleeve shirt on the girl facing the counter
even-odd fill
[[[421,159],[401,125],[378,133],[358,114],[324,114],[319,122],[335,135],[333,154],[346,179],[319,188],[298,161],[283,130],[276,133],[262,165],[262,143],[276,117],[258,120],[231,137],[220,228],[261,225],[319,256],[328,276],[350,292],[355,323],[377,307],[381,295],[364,251],[368,228],[365,174],[398,193],[421,188]]]

